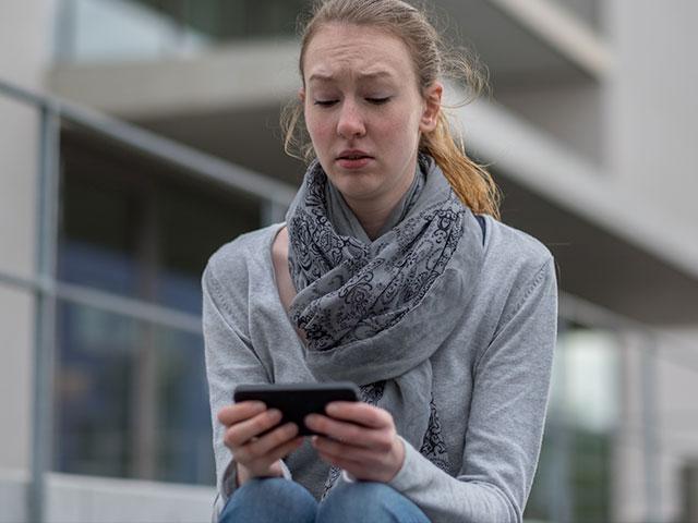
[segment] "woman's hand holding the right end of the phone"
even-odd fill
[[[321,434],[312,445],[324,461],[357,479],[387,483],[395,477],[405,447],[389,412],[350,401],[334,401],[325,412],[305,417],[305,425]]]

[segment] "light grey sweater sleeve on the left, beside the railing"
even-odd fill
[[[241,328],[244,321],[239,318],[240,311],[236,311],[228,293],[224,293],[214,272],[209,263],[202,278],[202,290],[206,376],[216,460],[216,521],[237,487],[234,458],[224,443],[225,427],[218,422],[217,413],[232,403],[237,385],[269,382],[269,378]],[[284,476],[290,478],[290,472],[282,461],[281,467]]]

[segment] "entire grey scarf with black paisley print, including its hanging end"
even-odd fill
[[[317,161],[287,215],[292,323],[318,381],[350,380],[407,441],[448,470],[430,357],[453,331],[482,267],[479,226],[434,160],[371,241]],[[337,471],[330,473],[328,487]]]

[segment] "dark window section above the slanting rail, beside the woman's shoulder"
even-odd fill
[[[62,139],[59,279],[198,314],[206,260],[260,227],[261,203],[79,135]]]

